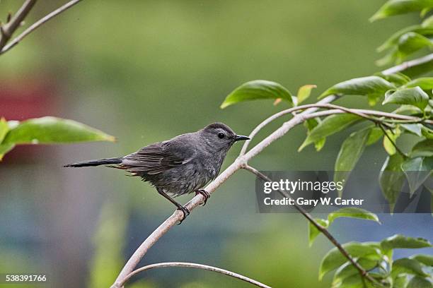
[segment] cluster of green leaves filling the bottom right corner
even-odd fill
[[[360,208],[342,208],[330,213],[327,219],[317,218],[315,220],[323,228],[327,229],[334,220],[340,217],[371,220],[380,224],[377,215]],[[310,245],[313,244],[313,241],[320,233],[313,224],[308,224]],[[396,248],[432,247],[432,244],[427,239],[396,234],[380,242],[349,242],[342,246],[377,283],[366,282],[362,275],[359,274],[359,270],[335,247],[326,253],[319,268],[319,280],[322,280],[327,273],[335,270],[331,286],[333,288],[433,287],[433,256],[417,254],[409,258],[393,260],[393,250]]]

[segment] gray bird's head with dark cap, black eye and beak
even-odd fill
[[[229,126],[222,123],[209,124],[200,130],[200,134],[208,145],[217,150],[229,150],[236,141],[250,139],[237,135]]]

